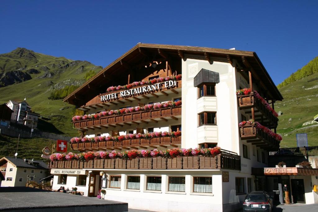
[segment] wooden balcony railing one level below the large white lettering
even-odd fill
[[[139,111],[134,113],[127,113],[123,115],[112,115],[112,116],[105,116],[100,117],[96,120],[80,120],[80,121],[73,121],[74,128],[85,128],[85,127],[94,127],[94,126],[106,126],[111,125],[114,127],[116,124],[120,123],[132,123],[141,120],[151,120],[151,119],[158,119],[164,117],[171,117],[181,115],[181,106],[179,107],[168,107],[168,108],[160,108],[156,110],[150,111]]]

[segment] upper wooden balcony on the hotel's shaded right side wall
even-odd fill
[[[253,92],[249,95],[238,95],[239,109],[256,108],[255,110],[255,121],[263,123],[263,125],[268,126],[273,129],[277,127],[278,118],[273,115],[261,102],[259,99],[254,97]],[[246,111],[245,113],[251,113],[251,111]],[[267,121],[267,122],[266,122]]]

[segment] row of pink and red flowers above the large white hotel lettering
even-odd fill
[[[133,82],[128,85],[118,85],[118,86],[110,86],[107,88],[107,92],[112,91],[120,91],[120,90],[129,90],[133,87],[139,86],[139,85],[154,85],[159,82],[169,81],[169,80],[180,80],[182,79],[182,75],[176,75],[176,76],[167,76],[166,78],[158,78],[158,79],[152,79],[152,80],[142,80],[139,82]]]

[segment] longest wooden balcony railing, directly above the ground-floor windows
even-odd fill
[[[51,161],[49,168],[67,169],[241,169],[237,154],[224,153],[213,157],[183,156],[176,158],[94,159],[89,161]]]

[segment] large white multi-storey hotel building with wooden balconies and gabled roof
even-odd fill
[[[155,79],[151,85],[109,88]],[[252,92],[237,95],[244,88]],[[220,147],[221,153],[53,161],[53,189],[76,186],[87,196],[105,189],[105,199],[135,209],[233,211],[256,189],[252,168],[266,167],[268,151],[279,148],[273,108],[282,99],[255,52],[138,43],[64,101],[91,117],[167,101],[182,105],[74,119],[74,128],[87,138],[164,131],[181,131],[181,136],[73,143],[73,152]],[[239,125],[250,119],[259,125]]]

